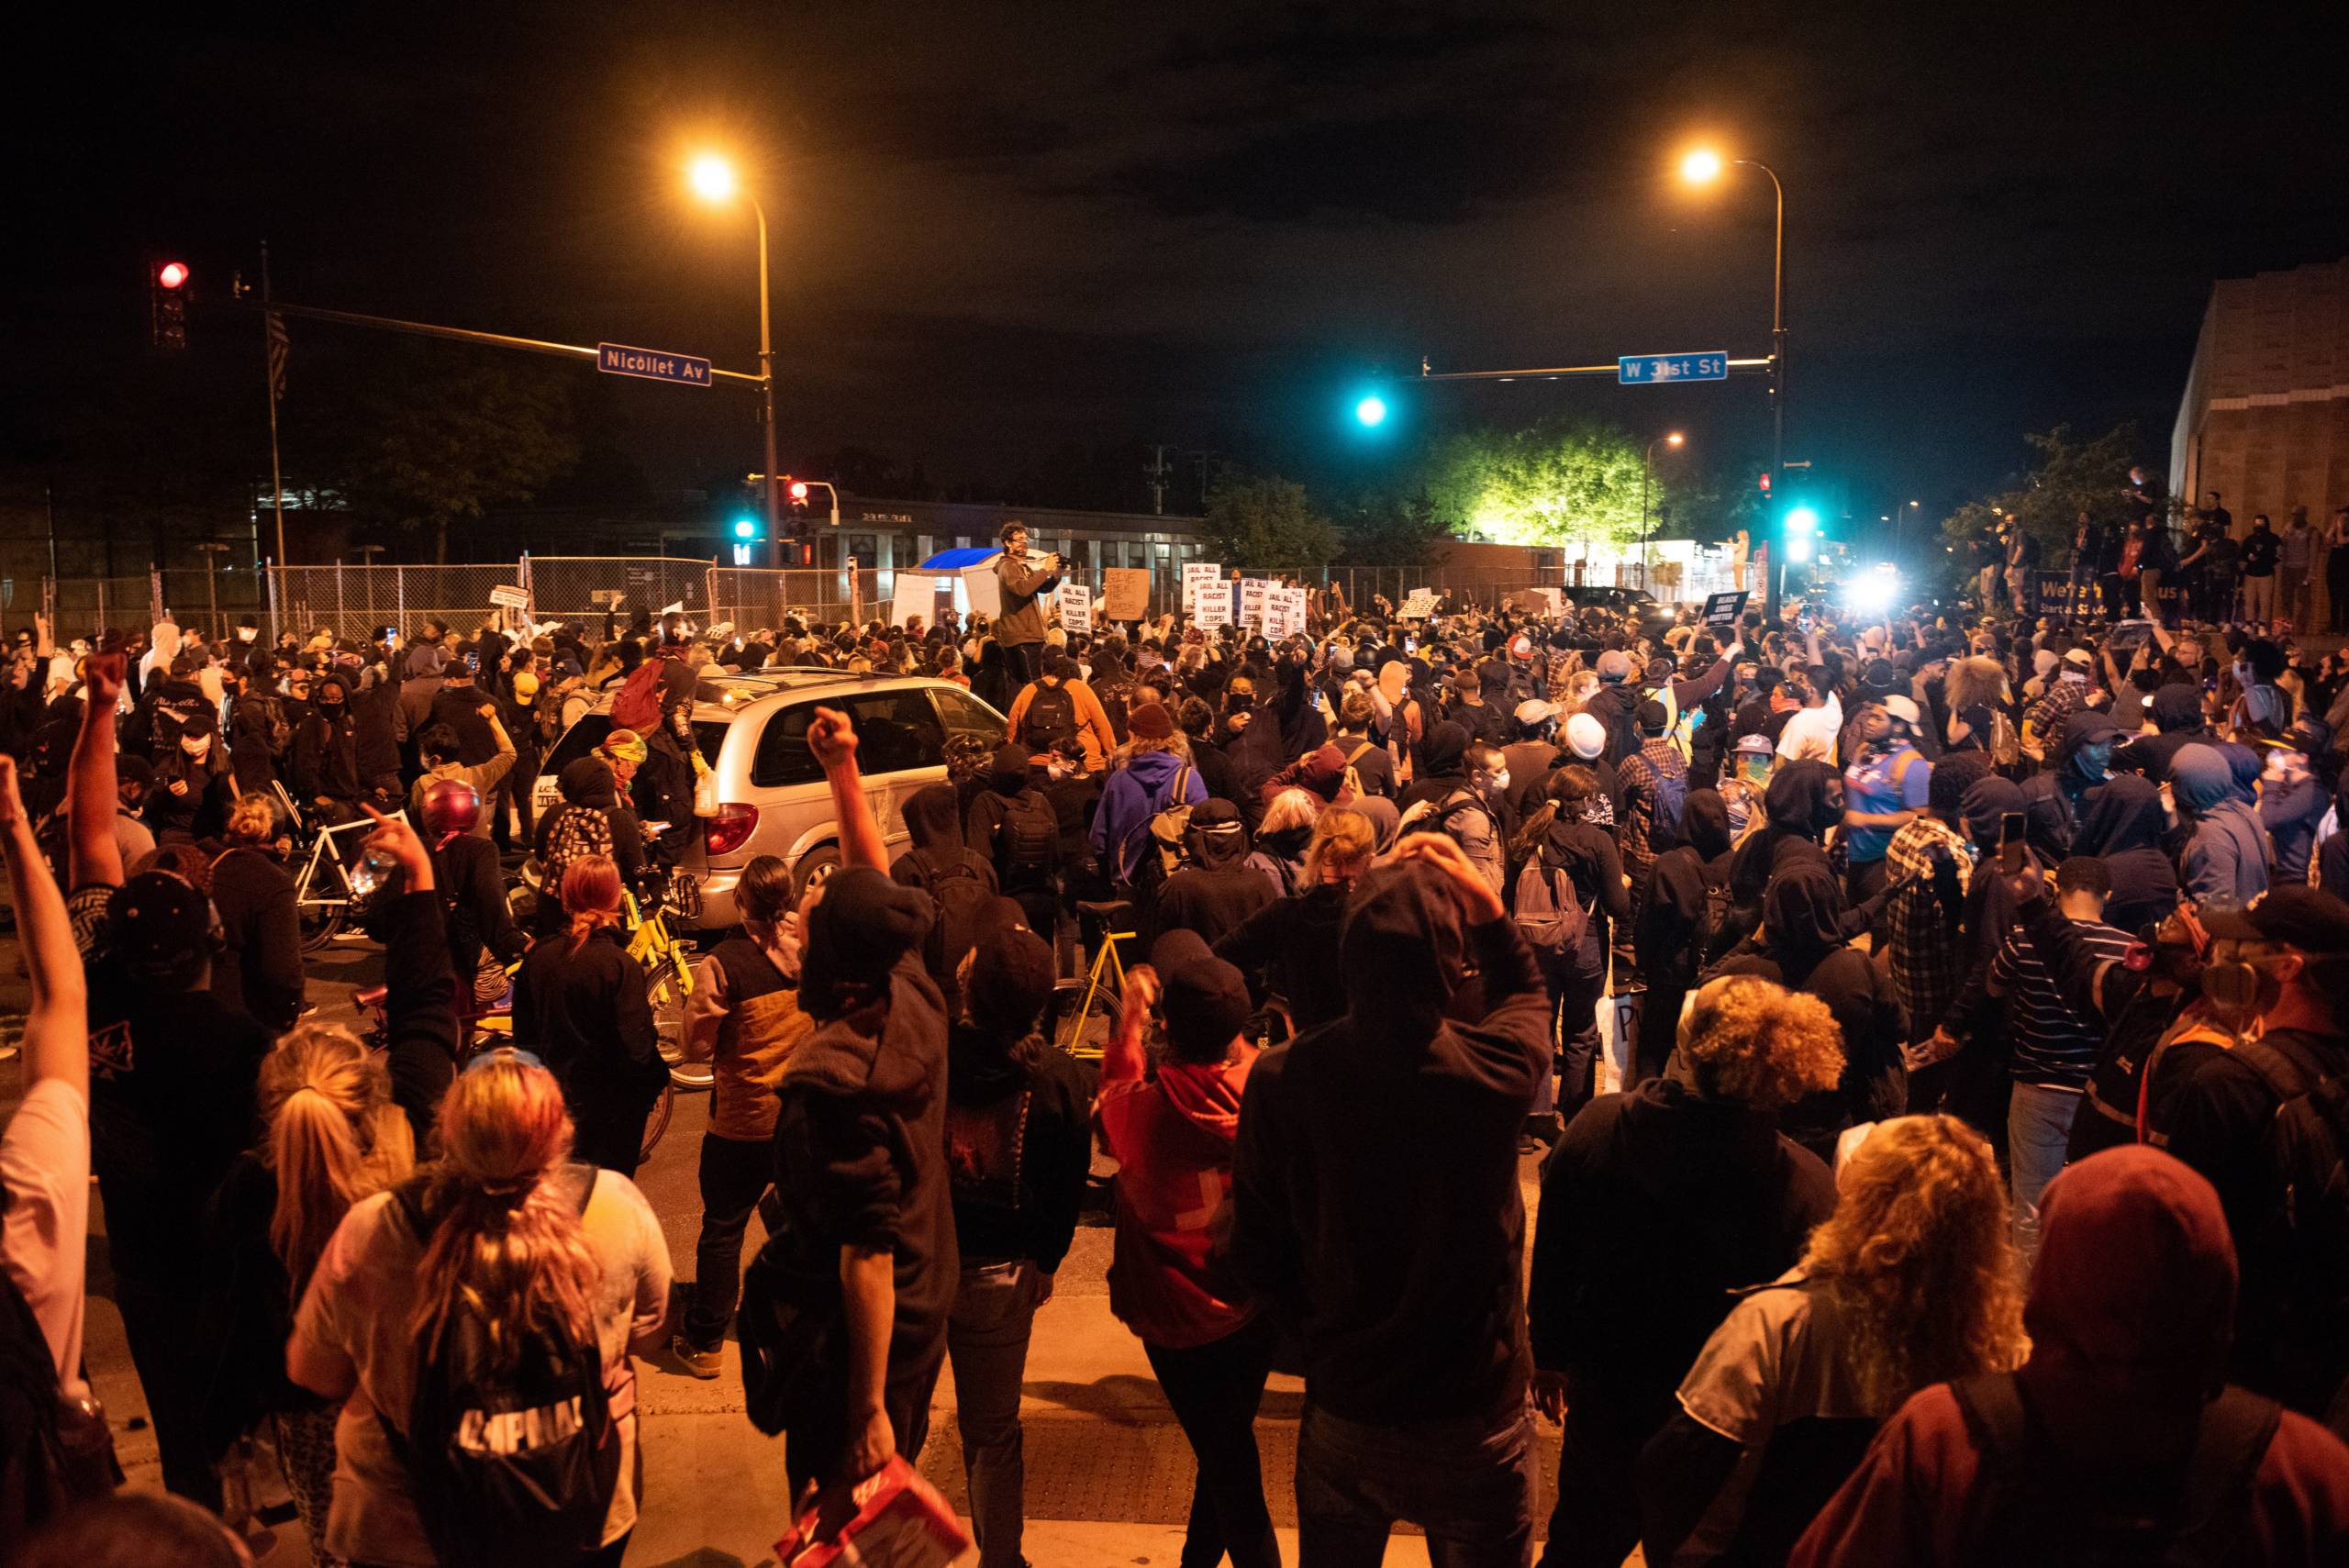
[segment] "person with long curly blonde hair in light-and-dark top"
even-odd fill
[[[1738,1298],[1640,1455],[1651,1563],[1783,1563],[1910,1394],[2022,1364],[2006,1192],[1978,1131],[1877,1122],[1835,1185],[1802,1263]]]

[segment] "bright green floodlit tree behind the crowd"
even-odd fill
[[[1428,455],[1426,491],[1440,516],[1503,545],[1633,545],[1640,540],[1640,444],[1611,425],[1553,420],[1532,430],[1470,430]],[[1649,505],[1663,505],[1663,477]]]

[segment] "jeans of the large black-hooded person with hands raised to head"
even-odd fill
[[[1297,1432],[1299,1568],[1379,1568],[1395,1521],[1433,1568],[1534,1561],[1534,1413],[1369,1427],[1306,1404]]]

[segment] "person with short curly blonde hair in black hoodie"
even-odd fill
[[[1616,1568],[1640,1540],[1640,1451],[1729,1293],[1785,1272],[1835,1211],[1835,1178],[1778,1113],[1842,1073],[1825,1002],[1717,979],[1663,1077],[1602,1094],[1557,1141],[1527,1298],[1534,1404],[1564,1427],[1543,1568]]]

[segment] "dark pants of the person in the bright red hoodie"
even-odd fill
[[[1198,1462],[1182,1568],[1217,1568],[1226,1554],[1231,1568],[1280,1568],[1257,1455],[1257,1406],[1273,1371],[1276,1338],[1273,1322],[1257,1317],[1205,1345],[1172,1350],[1142,1343]]]

